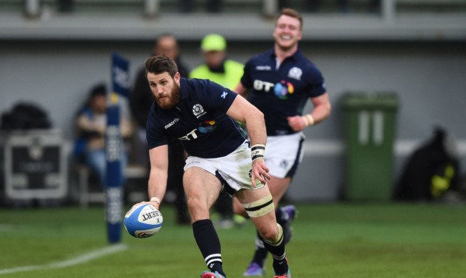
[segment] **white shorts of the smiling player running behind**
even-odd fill
[[[302,132],[267,137],[264,160],[270,170],[270,175],[282,179],[295,175],[298,166],[303,161],[305,138]]]

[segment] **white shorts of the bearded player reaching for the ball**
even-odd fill
[[[251,148],[247,141],[243,142],[231,154],[214,159],[203,159],[198,156],[188,156],[184,170],[190,167],[203,168],[219,178],[226,191],[233,196],[240,189],[260,189],[264,186],[256,180],[256,187],[252,186],[252,158]],[[223,180],[222,180],[223,179]],[[226,184],[225,184],[226,182]]]

